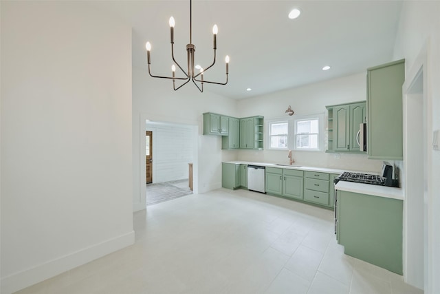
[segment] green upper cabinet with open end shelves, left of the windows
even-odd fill
[[[263,116],[240,118],[240,149],[263,149]]]

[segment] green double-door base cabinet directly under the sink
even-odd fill
[[[266,193],[303,199],[304,171],[266,167]]]

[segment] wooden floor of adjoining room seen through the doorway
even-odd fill
[[[188,179],[146,185],[146,206],[191,194]]]

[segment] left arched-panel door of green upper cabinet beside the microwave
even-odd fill
[[[333,108],[334,125],[334,149],[336,151],[348,151],[350,140],[350,106],[338,106]]]

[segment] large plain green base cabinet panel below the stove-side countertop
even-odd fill
[[[337,193],[336,238],[345,254],[402,275],[403,201]]]

